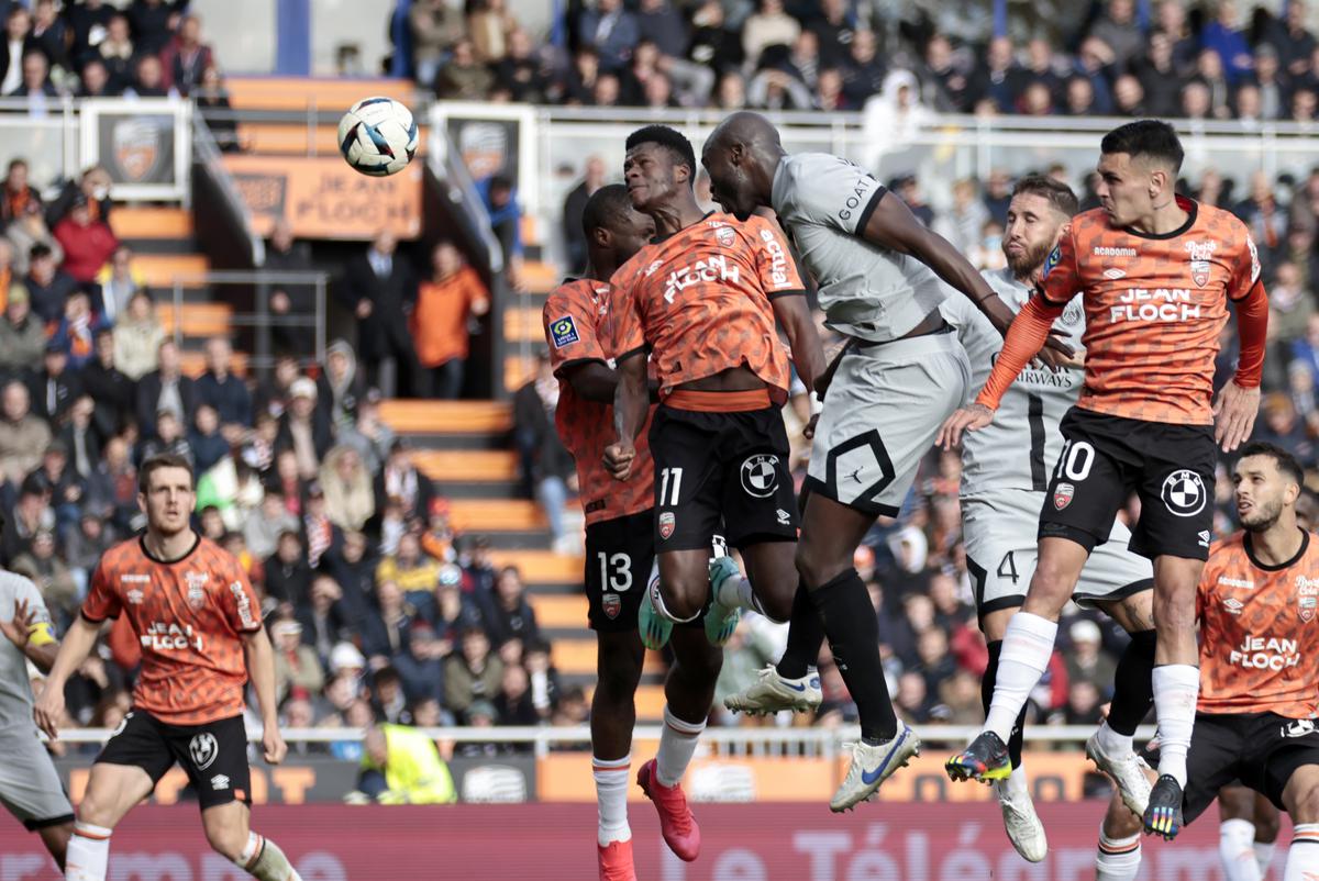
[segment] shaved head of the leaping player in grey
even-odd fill
[[[700,164],[710,173],[711,195],[739,220],[769,204],[774,171],[782,158],[778,129],[751,111],[739,111],[720,123],[700,153]]]

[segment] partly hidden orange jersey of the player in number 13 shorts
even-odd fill
[[[609,367],[619,355],[615,324],[619,311],[627,309],[627,294],[603,281],[575,278],[563,282],[545,302],[545,342],[550,363],[559,377],[559,405],[554,425],[559,439],[576,462],[582,509],[586,522],[595,524],[654,506],[654,463],[650,462],[650,417],[637,434],[637,458],[632,476],[615,480],[604,468],[604,448],[617,437],[613,431],[613,408],[578,396],[563,377],[563,368],[583,361]],[[654,408],[652,408],[652,411]]]

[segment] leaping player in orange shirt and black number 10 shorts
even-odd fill
[[[1035,574],[1008,624],[984,728],[947,770],[954,779],[1008,775],[1006,741],[1049,663],[1058,616],[1091,550],[1108,539],[1117,509],[1136,492],[1141,518],[1130,547],[1154,561],[1151,684],[1162,743],[1144,823],[1146,832],[1171,839],[1182,826],[1199,690],[1195,590],[1213,529],[1215,444],[1236,450],[1254,425],[1269,305],[1245,226],[1174,193],[1182,145],[1171,125],[1128,123],[1104,136],[1100,152],[1103,207],[1072,220],[989,380],[940,433],[952,447],[964,430],[988,426],[1054,320],[1083,294],[1086,385],[1062,421]],[[1229,299],[1241,356],[1211,406]]]

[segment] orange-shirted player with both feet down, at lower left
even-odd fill
[[[237,561],[189,525],[195,493],[186,459],[152,456],[137,481],[146,532],[100,558],[36,706],[37,724],[54,740],[69,677],[95,646],[102,624],[128,617],[142,646],[133,708],[91,766],[65,878],[106,881],[115,826],[178,762],[197,787],[206,840],[218,853],[253,878],[298,881],[274,841],[248,826],[243,695],[249,678],[265,760],[278,764],[288,752],[276,716],[274,653],[256,593]]]

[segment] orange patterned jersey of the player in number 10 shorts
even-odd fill
[[[1211,425],[1213,359],[1228,299],[1260,282],[1237,218],[1178,197],[1181,229],[1148,236],[1101,210],[1072,219],[1045,262],[1045,301],[1086,305],[1086,386],[1076,406],[1128,419]]]

